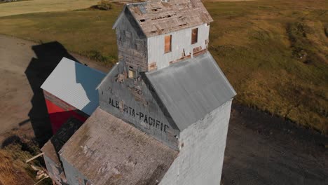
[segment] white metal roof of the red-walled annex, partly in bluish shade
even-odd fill
[[[101,71],[63,57],[41,88],[91,115],[99,105],[96,88],[104,76]]]

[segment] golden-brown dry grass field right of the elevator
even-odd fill
[[[327,1],[206,5],[210,50],[238,102],[327,134]]]

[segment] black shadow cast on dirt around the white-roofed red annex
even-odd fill
[[[40,87],[60,60],[62,60],[62,57],[67,57],[74,61],[77,60],[57,41],[32,46],[32,50],[34,50],[36,58],[32,58],[25,71],[29,85],[31,85],[34,93],[31,100],[32,109],[29,111],[29,118],[36,142],[38,142],[39,146],[43,146],[53,134],[43,90]]]

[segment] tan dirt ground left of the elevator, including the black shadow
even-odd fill
[[[41,85],[62,57],[108,72],[86,57],[69,54],[58,42],[33,43],[0,35],[0,144],[8,131],[35,135],[43,144],[51,133]]]

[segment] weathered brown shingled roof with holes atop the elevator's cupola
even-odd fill
[[[167,34],[213,21],[200,0],[168,0],[168,2],[151,0],[127,4],[113,28],[126,13],[126,8],[139,25],[135,28],[141,28],[147,37]]]

